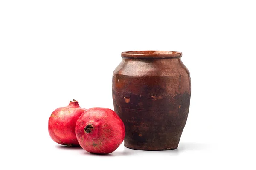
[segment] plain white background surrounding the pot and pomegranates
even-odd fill
[[[255,169],[255,16],[253,0],[1,0],[0,169]],[[99,156],[53,142],[49,116],[70,100],[113,109],[113,70],[134,50],[183,53],[179,148]]]

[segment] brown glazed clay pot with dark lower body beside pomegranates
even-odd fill
[[[189,113],[191,82],[181,52],[122,52],[113,72],[114,110],[125,124],[125,147],[178,147]]]

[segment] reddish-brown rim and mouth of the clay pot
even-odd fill
[[[126,51],[121,53],[122,58],[137,59],[167,59],[180,58],[181,52],[177,51]]]

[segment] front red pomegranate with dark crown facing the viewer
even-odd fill
[[[87,152],[112,153],[125,138],[125,125],[111,109],[89,108],[76,122],[76,138]]]

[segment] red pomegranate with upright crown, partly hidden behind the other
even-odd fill
[[[70,101],[66,107],[57,108],[53,111],[48,122],[48,131],[52,140],[70,147],[79,146],[75,127],[77,119],[84,111],[86,109],[80,108],[76,100]]]

